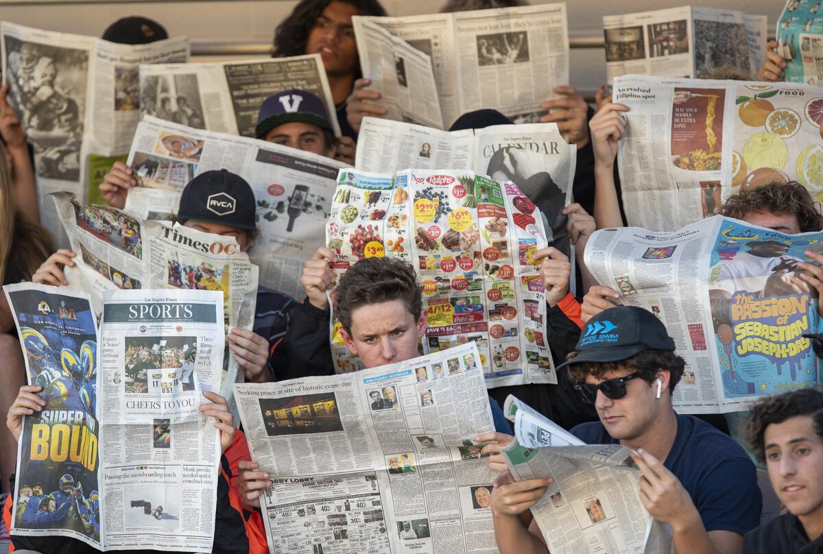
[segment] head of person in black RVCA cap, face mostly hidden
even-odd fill
[[[247,252],[257,236],[257,201],[251,186],[227,170],[204,171],[180,195],[180,225],[213,235],[231,236]]]

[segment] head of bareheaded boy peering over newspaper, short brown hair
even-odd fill
[[[426,314],[414,268],[395,258],[365,258],[340,279],[335,314],[346,347],[366,368],[419,356]]]

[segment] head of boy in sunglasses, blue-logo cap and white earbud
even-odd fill
[[[568,368],[575,389],[594,404],[613,439],[644,444],[672,412],[672,393],[686,365],[674,350],[654,314],[616,306],[588,320],[575,351],[557,370]]]

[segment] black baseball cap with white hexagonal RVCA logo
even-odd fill
[[[228,170],[204,171],[183,189],[177,218],[255,230],[255,207],[257,201],[245,179]]]

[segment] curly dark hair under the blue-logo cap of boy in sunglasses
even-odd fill
[[[574,360],[577,352],[570,352],[566,360]],[[583,361],[579,364],[568,366],[569,378],[574,384],[583,384],[586,375],[592,375],[595,379],[602,379],[603,375],[609,371],[630,370],[632,373],[639,371],[640,378],[649,383],[653,383],[658,378],[658,371],[669,370],[669,392],[674,393],[674,388],[680,383],[683,370],[686,368],[686,361],[677,356],[672,351],[667,350],[643,350],[635,356],[631,356],[621,361]]]

